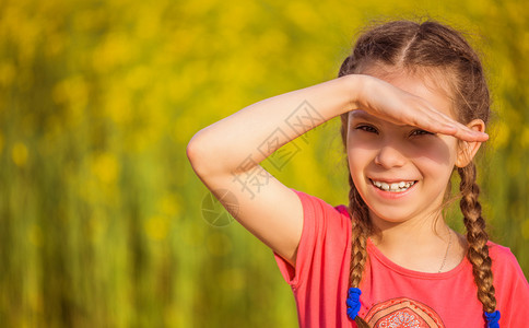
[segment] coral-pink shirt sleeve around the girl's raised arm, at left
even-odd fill
[[[273,253],[283,279],[296,289],[307,279],[314,280],[324,266],[342,261],[346,254],[351,222],[344,206],[333,208],[324,200],[294,190],[303,207],[303,230],[297,247],[295,268]],[[342,248],[343,251],[331,251]],[[341,257],[340,259],[336,257]]]

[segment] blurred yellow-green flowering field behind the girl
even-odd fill
[[[334,78],[372,19],[439,19],[483,52],[497,115],[482,199],[527,277],[528,3],[3,0],[0,326],[296,327],[271,250],[204,220],[214,204],[185,149],[249,104]],[[271,173],[345,203],[338,121],[298,145]]]

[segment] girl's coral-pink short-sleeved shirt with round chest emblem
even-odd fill
[[[296,301],[299,327],[356,327],[346,315],[351,220],[344,206],[296,191],[304,225],[296,268],[273,253]],[[510,250],[489,242],[499,327],[527,327],[529,284]],[[358,315],[372,327],[485,327],[472,267],[424,273],[399,267],[368,242]]]

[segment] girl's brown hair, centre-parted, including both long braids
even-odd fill
[[[460,33],[434,21],[423,23],[395,21],[376,25],[364,32],[343,61],[339,77],[361,73],[367,67],[389,67],[395,71],[443,72],[447,79],[458,120],[467,124],[490,116],[490,94],[479,56]],[[346,148],[349,114],[341,115],[341,136]],[[349,167],[349,165],[348,165]],[[349,169],[349,168],[348,168]],[[479,187],[475,183],[475,166],[458,168],[460,181],[460,208],[465,216],[469,249],[467,257],[478,285],[478,298],[485,312],[496,307],[491,258],[486,242],[485,221],[478,201]],[[366,241],[373,233],[367,206],[356,190],[349,174],[349,211],[352,220],[350,284],[358,288],[364,265],[367,260]],[[360,316],[358,327],[369,327]]]

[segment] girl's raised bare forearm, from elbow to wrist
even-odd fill
[[[334,79],[252,104],[202,129],[188,156],[200,175],[251,168],[275,150],[353,108],[353,75]]]

